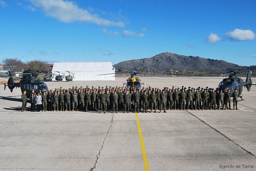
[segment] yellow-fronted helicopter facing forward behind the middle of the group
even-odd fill
[[[167,74],[156,74],[156,73],[137,73],[136,71],[132,70],[129,73],[110,73],[110,74],[99,74],[99,75],[111,75],[111,74],[131,74],[130,77],[126,80],[126,83],[123,83],[123,85],[126,84],[127,87],[135,87],[135,88],[141,88],[142,83],[138,76],[136,74],[149,74],[149,75],[162,75],[162,76],[168,76],[172,77],[173,75],[167,75]]]

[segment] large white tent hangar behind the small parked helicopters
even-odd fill
[[[60,75],[69,75],[68,71],[74,73],[74,81],[115,80],[115,69],[111,62],[54,62],[52,73],[59,75],[57,71],[60,72]],[[55,80],[55,77],[53,80]]]

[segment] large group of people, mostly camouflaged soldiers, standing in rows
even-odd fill
[[[26,91],[22,94],[22,111],[26,110]],[[41,96],[41,102],[40,102]],[[49,90],[46,92],[30,94],[31,110],[40,111],[88,111],[94,110],[102,113],[106,111],[120,111],[124,113],[130,110],[134,112],[148,111],[156,113],[157,110],[211,110],[211,109],[231,109],[231,98],[233,98],[233,109],[237,109],[238,92],[235,89],[231,94],[229,89],[219,90],[206,87],[205,89],[194,88],[175,88],[165,87],[160,90],[157,88],[135,88],[135,87],[111,87],[106,86],[91,89],[89,86],[83,88],[72,87],[69,89]],[[39,99],[39,102],[38,102]]]

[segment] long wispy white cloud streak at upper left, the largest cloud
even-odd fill
[[[29,0],[35,7],[42,10],[46,16],[56,18],[62,22],[90,22],[101,26],[124,27],[123,22],[114,22],[91,14],[86,9],[79,8],[72,1],[64,0]]]

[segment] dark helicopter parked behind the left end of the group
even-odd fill
[[[46,85],[45,82],[41,81],[40,79],[37,79],[35,77],[35,73],[22,73],[22,75],[26,76],[26,78],[20,78],[19,82],[14,81],[14,73],[11,73],[11,71],[8,71],[9,79],[7,82],[7,85],[4,83],[4,90],[6,86],[12,90],[14,88],[20,87],[21,92],[23,93],[24,90],[27,91],[27,97],[29,98],[31,91],[34,89],[35,92],[38,92],[41,90],[42,92],[45,92],[46,90],[48,91],[48,86]]]

